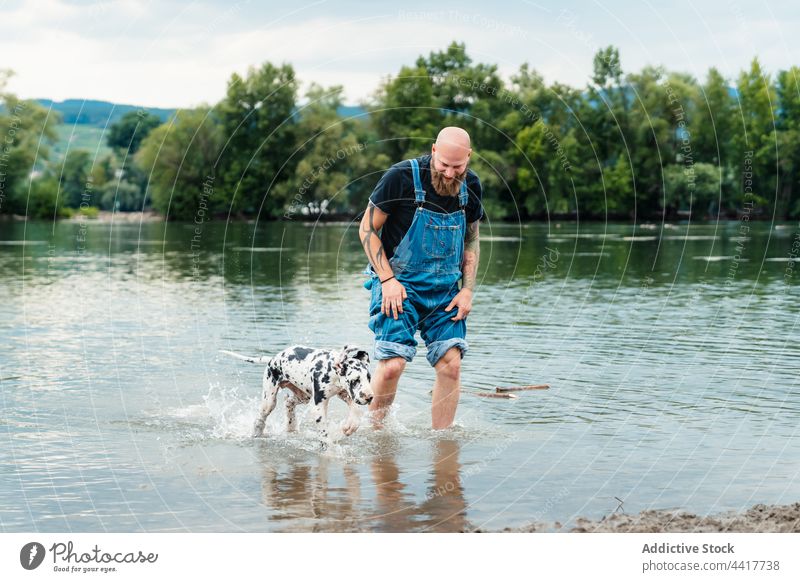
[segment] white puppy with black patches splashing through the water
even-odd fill
[[[357,347],[348,345],[342,350],[318,350],[292,346],[271,358],[220,351],[245,362],[267,364],[264,370],[263,401],[253,427],[253,437],[263,436],[264,425],[275,409],[278,390],[281,388],[290,390],[286,399],[286,430],[292,432],[297,428],[295,407],[313,399],[315,420],[323,438],[328,435],[328,402],[331,398],[338,396],[350,407],[350,414],[342,427],[346,435],[351,435],[358,429],[356,404],[372,402],[369,354]]]

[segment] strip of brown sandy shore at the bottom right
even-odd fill
[[[479,530],[480,531],[480,530]],[[643,511],[636,515],[613,514],[599,521],[579,518],[564,528],[559,523],[533,523],[504,532],[572,533],[707,533],[707,532],[800,532],[800,503],[754,505],[744,513],[698,516],[685,511]]]

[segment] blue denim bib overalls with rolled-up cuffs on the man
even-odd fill
[[[423,208],[425,190],[419,175],[419,162],[411,160],[417,210],[411,226],[397,245],[389,261],[392,271],[406,288],[403,313],[395,320],[381,313],[382,290],[378,276],[371,275],[364,287],[372,291],[369,328],[375,333],[375,359],[402,357],[411,361],[417,353],[414,339],[417,329],[428,347],[428,362],[433,366],[452,347],[467,351],[465,320],[452,321],[456,308],[445,311],[458,293],[461,262],[464,257],[464,233],[467,226],[466,176],[458,195],[460,210],[451,214]]]

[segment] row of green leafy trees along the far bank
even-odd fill
[[[291,65],[264,63],[232,75],[213,106],[164,123],[127,113],[108,131],[110,156],[49,162],[58,119],[4,87],[0,77],[3,214],[353,216],[385,169],[458,125],[494,220],[800,217],[800,68],[771,75],[758,59],[701,82],[655,66],[626,73],[607,47],[574,88],[528,64],[504,79],[452,43],[383,80],[354,115],[341,113],[341,86],[312,84],[301,99]]]

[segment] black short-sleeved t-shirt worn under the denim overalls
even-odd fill
[[[423,208],[433,212],[451,214],[457,212],[458,196],[440,196],[433,189],[431,182],[431,156],[430,154],[417,158],[419,161],[419,177],[425,189],[425,205]],[[483,217],[481,196],[483,190],[478,175],[472,170],[467,170],[467,224]],[[411,170],[411,160],[403,160],[389,168],[381,177],[369,201],[389,215],[381,230],[381,243],[390,259],[394,249],[403,240],[411,228],[417,205],[414,197],[414,175]],[[464,233],[466,235],[466,233]]]

